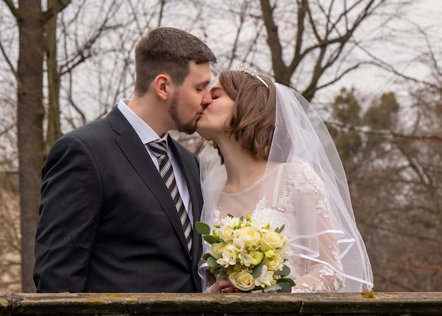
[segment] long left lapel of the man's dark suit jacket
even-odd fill
[[[183,227],[179,221],[174,203],[165,185],[158,185],[163,183],[163,180],[148,151],[146,151],[145,145],[117,107],[114,107],[114,110],[107,115],[107,119],[109,119],[112,129],[116,132],[115,142],[133,166],[133,169],[136,170],[145,185],[150,189],[150,192],[157,198],[179,236],[182,246],[187,250]]]

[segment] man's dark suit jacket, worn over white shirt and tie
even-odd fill
[[[169,146],[198,221],[198,160],[170,137]],[[189,256],[172,198],[117,107],[56,141],[42,176],[37,292],[201,291],[200,237],[193,230]]]

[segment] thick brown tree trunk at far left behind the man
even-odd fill
[[[20,0],[17,19],[20,33],[18,56],[18,161],[20,164],[20,209],[22,291],[34,292],[32,281],[35,232],[38,222],[42,163],[42,80],[44,27],[41,1]]]

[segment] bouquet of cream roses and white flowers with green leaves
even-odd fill
[[[197,222],[195,228],[210,244],[203,259],[213,274],[229,279],[241,291],[292,291],[294,281],[287,277],[290,269],[284,264],[291,252],[287,237],[281,235],[284,226],[270,230],[270,223],[247,213],[245,221],[223,218],[211,235],[205,223]]]

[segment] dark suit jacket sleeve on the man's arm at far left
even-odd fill
[[[34,279],[38,292],[83,292],[102,208],[88,148],[74,136],[52,146],[42,169]]]

